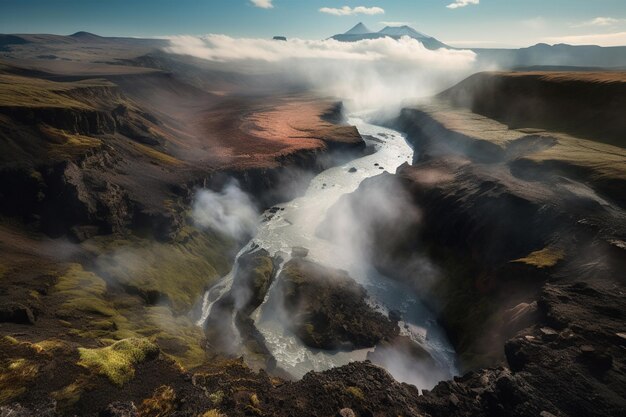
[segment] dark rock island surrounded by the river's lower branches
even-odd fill
[[[292,259],[280,280],[293,331],[308,346],[371,347],[399,332],[397,322],[374,311],[366,302],[363,287],[343,271]]]

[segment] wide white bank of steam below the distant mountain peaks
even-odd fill
[[[425,48],[404,37],[339,42],[334,39],[276,42],[225,35],[170,38],[168,52],[210,61],[253,63],[338,97],[352,111],[397,109],[403,101],[433,95],[474,72],[472,51]]]

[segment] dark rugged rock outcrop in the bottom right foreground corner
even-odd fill
[[[546,285],[541,319],[506,344],[510,369],[442,382],[420,397],[421,408],[450,416],[620,415],[626,299],[603,286]]]

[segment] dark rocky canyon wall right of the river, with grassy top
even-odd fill
[[[422,295],[472,371],[420,397],[423,410],[619,415],[626,213],[623,187],[606,185],[623,184],[624,150],[442,102],[392,125],[414,145],[413,165],[347,198],[367,211],[369,188],[412,196],[411,233],[363,227],[377,231],[378,267]]]

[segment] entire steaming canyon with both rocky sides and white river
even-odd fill
[[[353,115],[88,35],[2,38],[0,415],[626,408],[624,73]]]

